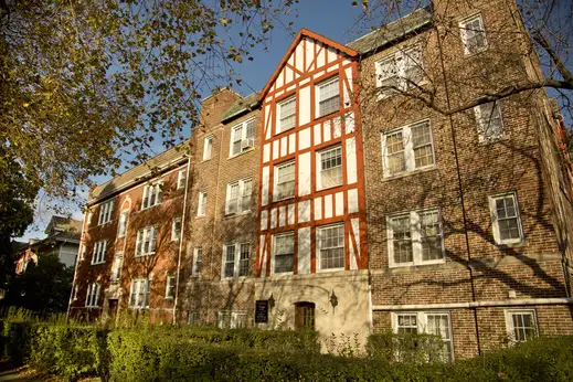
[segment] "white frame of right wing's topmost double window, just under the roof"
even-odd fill
[[[414,53],[414,54],[413,54]],[[415,60],[412,60],[415,57],[415,55],[420,56],[420,62],[416,62]],[[422,50],[422,44],[414,44],[406,46],[404,49],[401,49],[400,51],[389,54],[386,56],[383,56],[382,59],[378,60],[375,62],[375,81],[376,81],[376,88],[380,89],[382,87],[382,82],[391,78],[391,76],[382,77],[382,66],[389,62],[392,62],[392,65],[395,65],[395,87],[397,87],[400,91],[407,91],[411,87],[414,87],[413,84],[411,84],[406,78],[406,62],[410,63],[410,61],[414,61],[414,63],[418,66],[421,71],[421,79],[417,83],[417,86],[422,86],[426,83],[426,75],[424,72],[424,55]],[[379,91],[378,93],[378,99],[388,98],[394,94],[397,94],[395,89],[388,88],[385,91]]]

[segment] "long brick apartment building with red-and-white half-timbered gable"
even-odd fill
[[[572,333],[559,113],[542,92],[415,98],[537,79],[523,31],[510,0],[434,1],[347,45],[301,30],[259,93],[206,97],[189,141],[93,190],[70,314],[429,332],[449,359]]]

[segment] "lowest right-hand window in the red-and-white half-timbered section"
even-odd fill
[[[344,269],[344,224],[318,229],[320,270]]]

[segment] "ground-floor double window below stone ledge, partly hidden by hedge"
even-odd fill
[[[401,312],[393,315],[393,327],[396,333],[426,333],[442,338],[441,358],[443,361],[454,359],[450,318],[448,312]],[[400,358],[400,353],[396,354]],[[432,361],[432,360],[428,360]]]

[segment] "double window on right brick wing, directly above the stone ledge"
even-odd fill
[[[438,210],[412,211],[389,217],[390,266],[443,263],[443,241]]]

